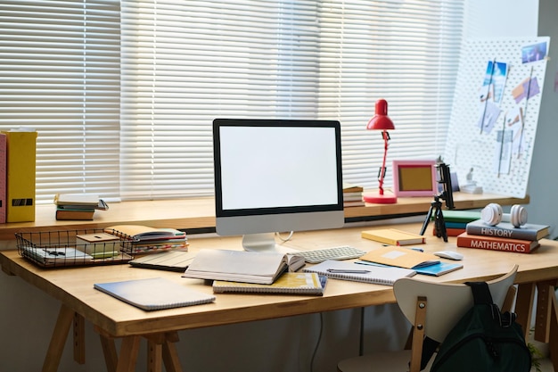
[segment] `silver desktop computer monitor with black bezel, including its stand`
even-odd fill
[[[341,125],[213,121],[216,227],[247,251],[283,251],[275,233],[342,227]]]

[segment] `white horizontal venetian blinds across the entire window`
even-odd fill
[[[458,0],[0,4],[0,128],[37,128],[37,199],[213,193],[217,117],[340,120],[345,179],[377,186],[366,131],[385,98],[389,161],[442,152]],[[390,185],[390,171],[386,186]]]

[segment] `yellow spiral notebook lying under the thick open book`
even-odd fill
[[[323,295],[327,277],[316,273],[284,273],[271,285],[215,280],[214,293],[283,293]]]

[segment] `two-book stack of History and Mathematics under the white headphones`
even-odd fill
[[[467,224],[465,232],[457,236],[457,246],[493,251],[530,253],[535,251],[539,240],[547,236],[546,225],[525,224],[513,227],[509,222],[490,226],[482,219]]]

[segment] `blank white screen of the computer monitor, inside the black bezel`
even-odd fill
[[[223,210],[337,203],[334,128],[221,127]]]

